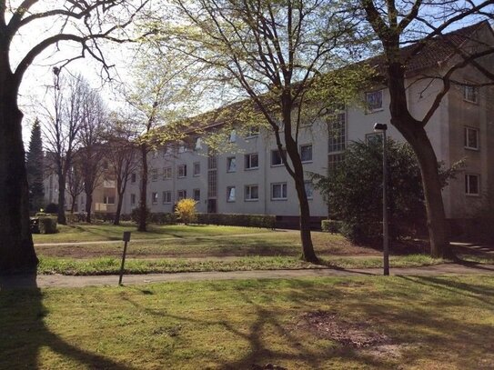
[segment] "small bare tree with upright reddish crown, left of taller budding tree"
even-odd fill
[[[106,158],[116,178],[116,213],[113,224],[120,224],[120,214],[130,175],[139,167],[136,130],[129,120],[111,120],[105,135]]]

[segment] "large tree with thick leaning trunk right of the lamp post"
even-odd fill
[[[426,126],[451,86],[465,85],[465,81],[456,78],[462,68],[472,66],[484,75],[484,81],[477,87],[494,83],[491,69],[493,59],[486,59],[489,55],[494,55],[492,29],[489,23],[473,25],[454,36],[444,34],[451,28],[464,25],[465,22],[485,20],[489,17],[492,19],[493,6],[492,0],[481,2],[416,0],[399,4],[393,0],[360,0],[354,9],[356,15],[362,11],[360,16],[367,19],[384,49],[383,75],[384,84],[388,86],[391,98],[389,104],[391,124],[407,139],[418,157],[427,207],[431,255],[436,257],[451,257],[453,253],[449,247],[438,160],[428,138]],[[405,45],[411,46],[408,46],[407,52],[403,53],[400,48]],[[417,56],[424,58],[420,55],[426,55],[425,58],[427,55],[430,57],[432,50],[435,55],[445,54],[444,62],[448,63],[439,65],[439,68],[436,68],[437,72],[418,75],[412,79],[412,81],[427,79],[428,94],[434,95],[433,102],[428,106],[425,115],[419,116],[412,112],[409,106],[408,72],[413,68],[411,63],[414,58]],[[431,88],[436,82],[440,84],[438,92],[434,92]]]

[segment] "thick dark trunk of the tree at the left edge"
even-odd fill
[[[5,47],[0,45],[0,275],[32,273],[38,263],[29,227],[23,115],[5,55]]]

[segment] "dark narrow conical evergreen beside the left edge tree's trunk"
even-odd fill
[[[41,125],[36,118],[31,130],[29,150],[25,158],[25,171],[29,185],[29,208],[31,212],[39,212],[44,204],[45,189],[43,186],[43,142],[41,139]]]

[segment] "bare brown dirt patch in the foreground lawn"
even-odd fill
[[[391,345],[388,335],[378,333],[368,322],[350,322],[327,311],[309,312],[301,316],[297,330],[305,330],[353,348]]]

